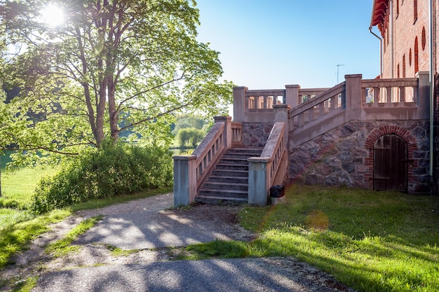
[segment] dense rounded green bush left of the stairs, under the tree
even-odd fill
[[[89,199],[113,197],[172,183],[173,162],[167,149],[104,145],[66,163],[55,176],[41,179],[30,209],[41,214]]]

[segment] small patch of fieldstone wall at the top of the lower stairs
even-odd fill
[[[243,146],[264,146],[274,123],[243,123]]]

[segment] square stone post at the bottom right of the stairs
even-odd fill
[[[268,157],[248,158],[248,204],[265,206],[269,198]]]

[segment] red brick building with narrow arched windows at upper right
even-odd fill
[[[439,2],[437,0],[374,0],[370,29],[381,36],[379,78],[412,78],[426,71],[431,78],[430,151],[433,184],[438,187]],[[372,32],[373,33],[373,32]],[[432,78],[433,77],[433,78]],[[437,190],[434,190],[437,193]]]

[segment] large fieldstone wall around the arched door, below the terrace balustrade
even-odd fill
[[[290,179],[373,189],[373,145],[384,134],[397,134],[407,143],[408,192],[431,193],[428,129],[428,121],[419,120],[351,121],[291,148]]]

